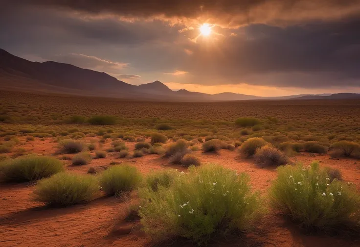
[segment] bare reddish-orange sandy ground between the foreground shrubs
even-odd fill
[[[109,140],[103,148],[110,147]],[[132,150],[135,143],[127,143]],[[51,139],[27,142],[26,151],[51,155],[57,143]],[[130,151],[131,152],[131,151]],[[256,166],[251,159],[240,158],[236,151],[221,150],[217,154],[204,154],[196,151],[202,162],[217,163],[225,167],[247,172],[254,189],[266,193],[271,181],[276,177],[275,169]],[[309,164],[320,161],[322,165],[338,168],[343,179],[356,184],[360,189],[360,162],[353,159],[330,159],[328,155],[298,154],[293,161]],[[167,159],[159,155],[145,155],[138,158],[119,159],[117,153],[106,158],[93,159],[85,166],[72,166],[66,162],[67,170],[74,173],[87,173],[89,167],[99,172],[110,166],[111,161],[130,162],[142,173],[151,169],[179,168],[169,165]],[[184,170],[184,169],[183,169]],[[27,183],[0,183],[0,247],[145,247],[154,243],[141,232],[139,222],[126,222],[125,215],[129,205],[134,203],[133,193],[129,200],[114,197],[98,198],[85,205],[67,208],[48,208],[31,200],[32,185]],[[173,243],[176,246],[191,246]],[[216,242],[212,246],[251,246],[251,247],[358,247],[359,240],[346,236],[312,236],[302,232],[294,223],[282,216],[270,213],[263,224],[247,236],[227,242]]]

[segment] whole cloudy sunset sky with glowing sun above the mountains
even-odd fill
[[[0,0],[0,48],[139,85],[360,93],[360,0]]]

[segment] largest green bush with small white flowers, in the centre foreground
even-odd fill
[[[206,245],[215,235],[248,230],[259,219],[262,201],[252,194],[246,173],[218,165],[190,167],[168,187],[140,189],[139,216],[153,239],[183,237]]]

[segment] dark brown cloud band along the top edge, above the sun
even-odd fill
[[[209,18],[222,25],[333,20],[360,13],[359,0],[20,0],[128,17]]]

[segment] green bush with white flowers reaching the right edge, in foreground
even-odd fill
[[[277,173],[270,189],[274,208],[309,228],[324,230],[356,223],[360,209],[356,188],[337,179],[331,182],[318,163],[306,168],[281,166]]]

